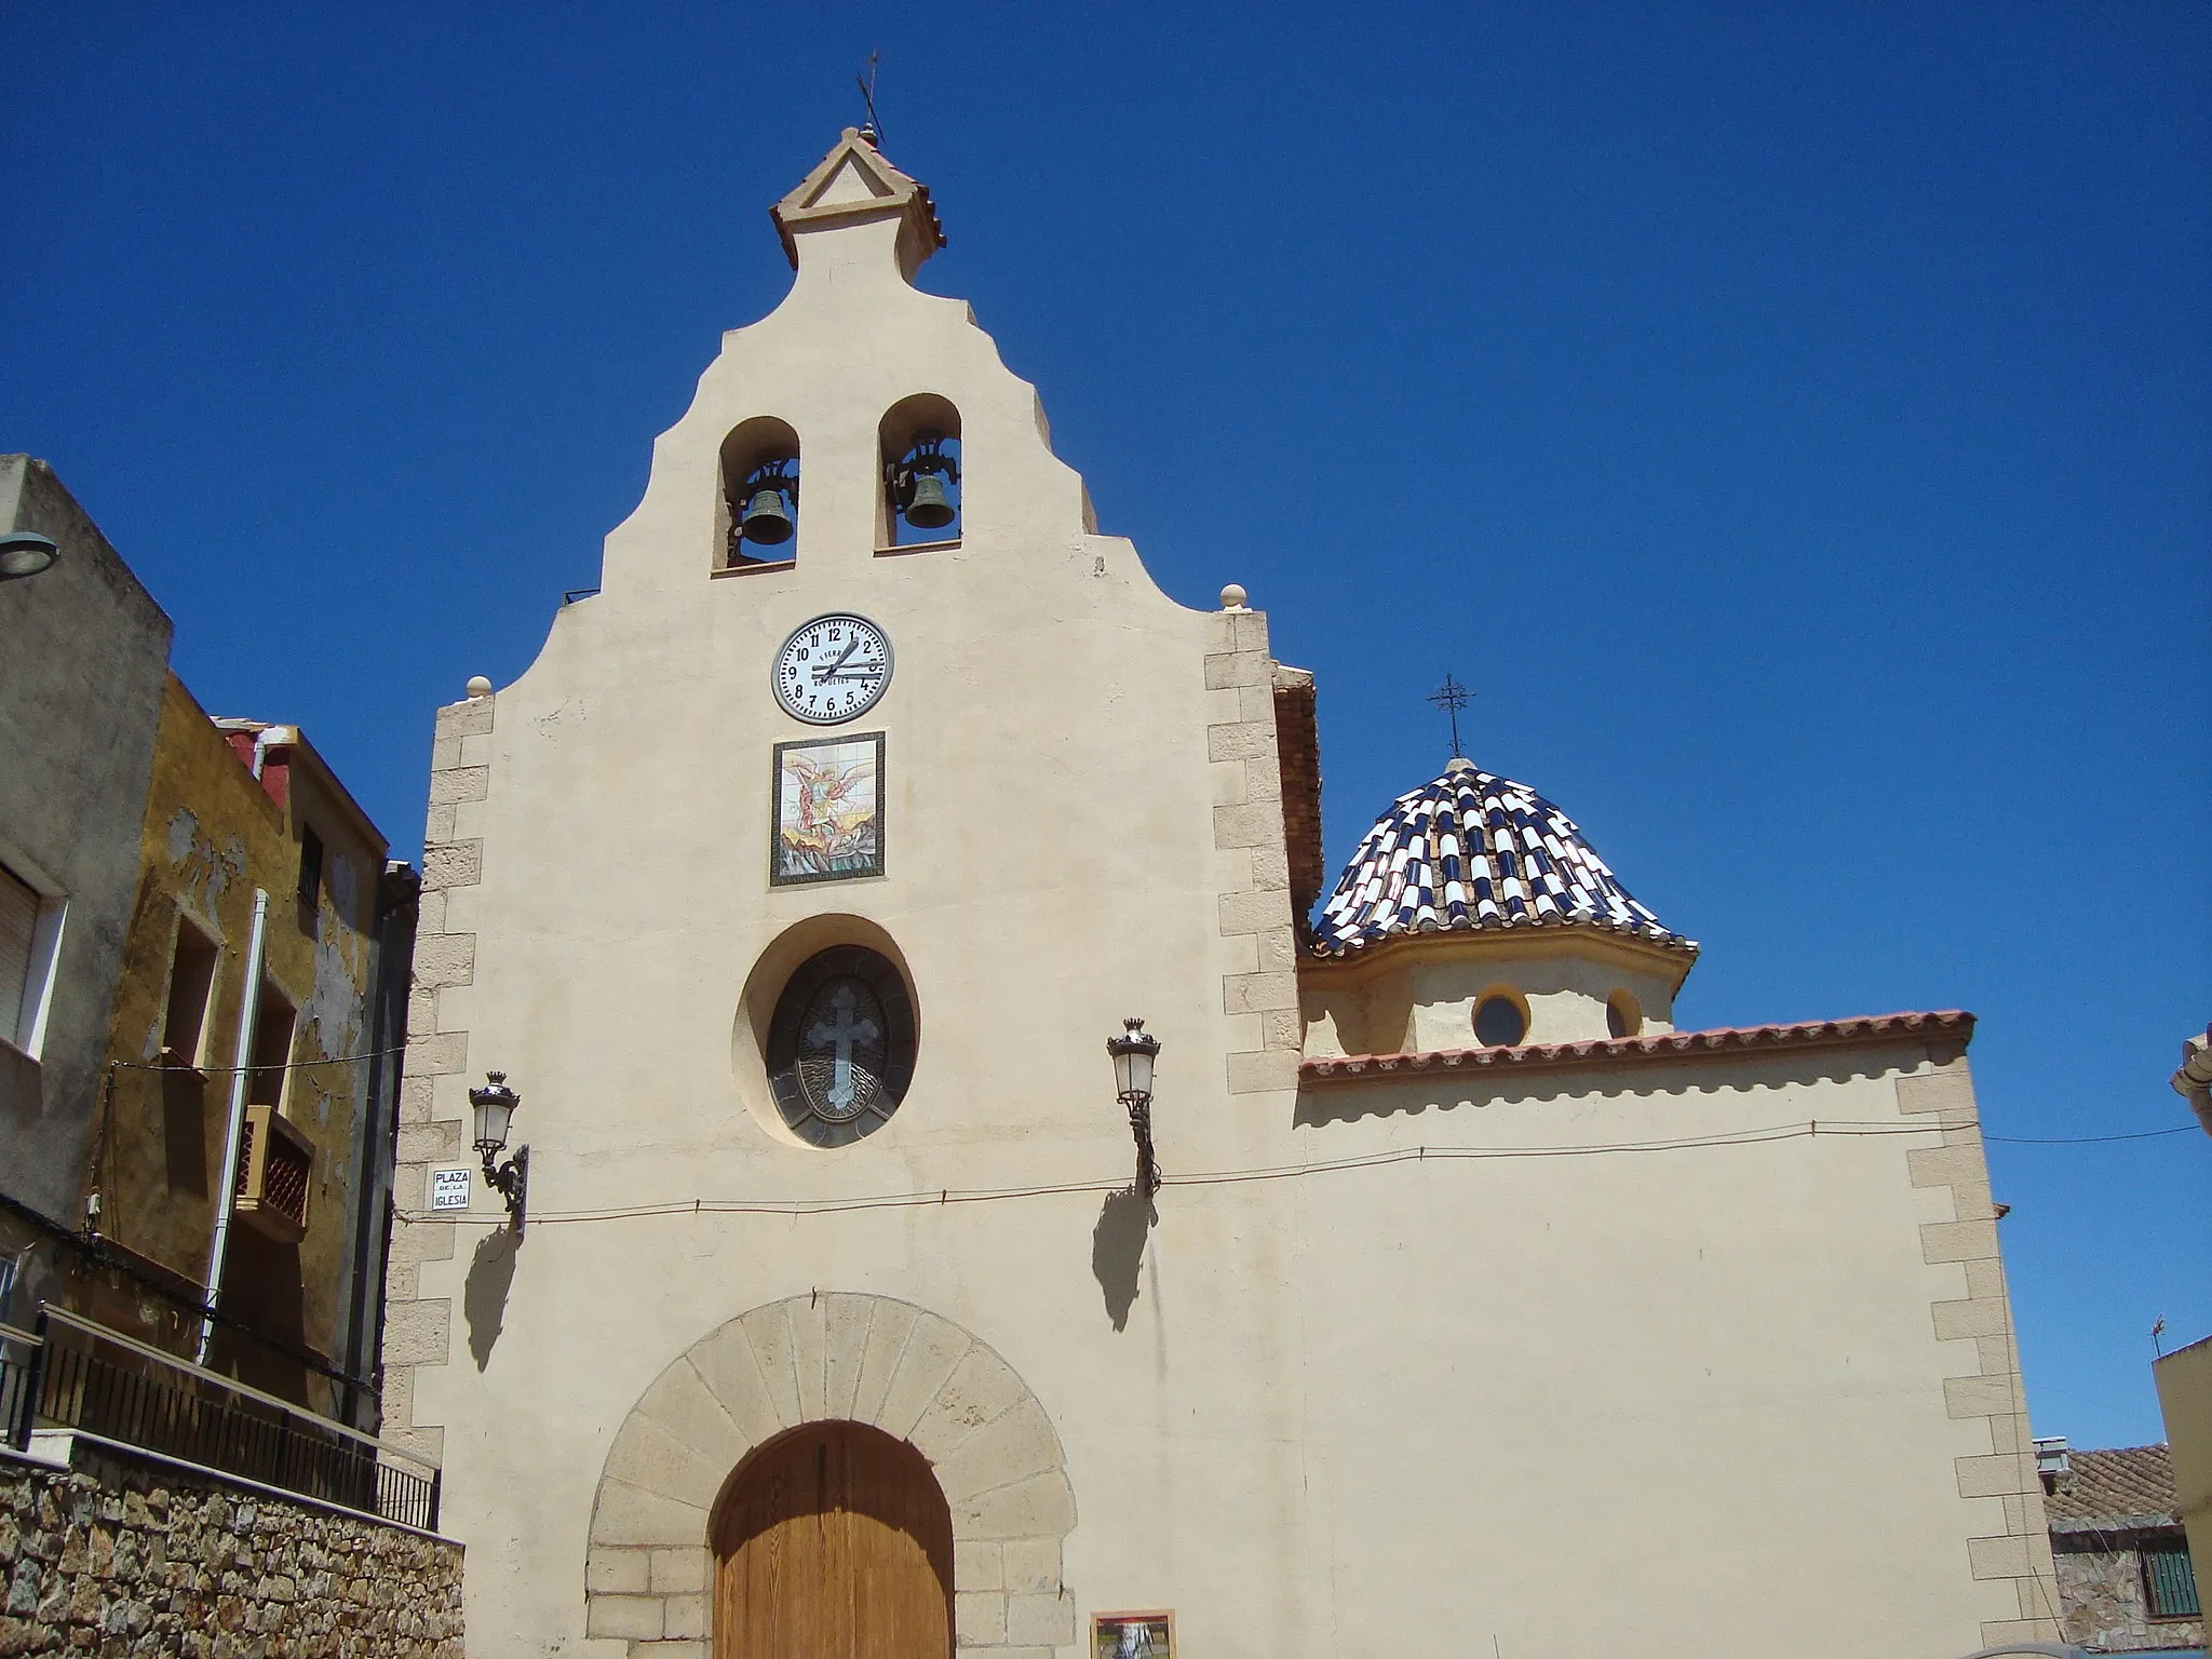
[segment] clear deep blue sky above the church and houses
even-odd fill
[[[1964,1006],[1991,1135],[2188,1121],[2205,7],[442,11],[0,9],[0,449],[396,852],[431,708],[531,661],[781,296],[765,206],[878,46],[925,285],[1161,586],[1316,670],[1332,858],[1451,670],[1703,940],[1683,1024]],[[1991,1164],[2037,1433],[2159,1438],[2212,1141]]]

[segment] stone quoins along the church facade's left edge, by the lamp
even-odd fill
[[[431,1164],[465,1164],[469,1033],[440,1015],[449,987],[476,982],[476,933],[453,931],[453,896],[484,874],[482,810],[491,794],[495,703],[471,697],[438,710],[429,757],[429,816],[422,825],[422,909],[416,931],[414,995],[407,1000],[407,1075],[400,1082],[398,1170],[392,1203],[403,1214],[429,1206]],[[442,1106],[440,1106],[440,1095]],[[385,1265],[385,1438],[438,1458],[445,1429],[416,1420],[416,1371],[445,1365],[453,1303],[422,1298],[425,1261],[449,1261],[451,1221],[396,1221]]]

